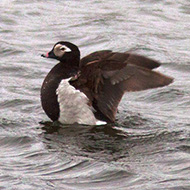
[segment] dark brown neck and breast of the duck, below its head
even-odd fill
[[[46,114],[56,121],[59,118],[59,104],[56,90],[62,79],[74,76],[79,70],[77,66],[67,63],[58,63],[46,76],[41,87],[41,102]]]

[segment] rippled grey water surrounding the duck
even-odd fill
[[[190,189],[190,2],[0,2],[0,189]],[[58,126],[40,105],[67,40],[82,56],[131,50],[163,63],[170,86],[127,93],[117,123]]]

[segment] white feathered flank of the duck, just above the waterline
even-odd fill
[[[62,80],[56,91],[60,107],[59,121],[64,124],[105,125],[106,122],[95,118],[87,96],[69,84],[70,79]]]

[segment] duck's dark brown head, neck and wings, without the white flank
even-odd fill
[[[80,60],[74,44],[58,42],[46,55],[60,62],[46,76],[41,88],[42,107],[53,120],[59,120],[60,106],[56,90],[63,79],[88,97],[88,104],[97,119],[114,122],[118,104],[126,91],[162,87],[173,79],[152,69],[160,66],[155,60],[132,54],[103,50]]]

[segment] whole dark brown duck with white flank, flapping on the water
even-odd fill
[[[59,61],[41,87],[41,104],[52,121],[62,124],[114,123],[125,92],[164,87],[173,78],[154,69],[160,62],[131,52],[99,50],[82,59],[79,48],[57,42],[42,57]]]

